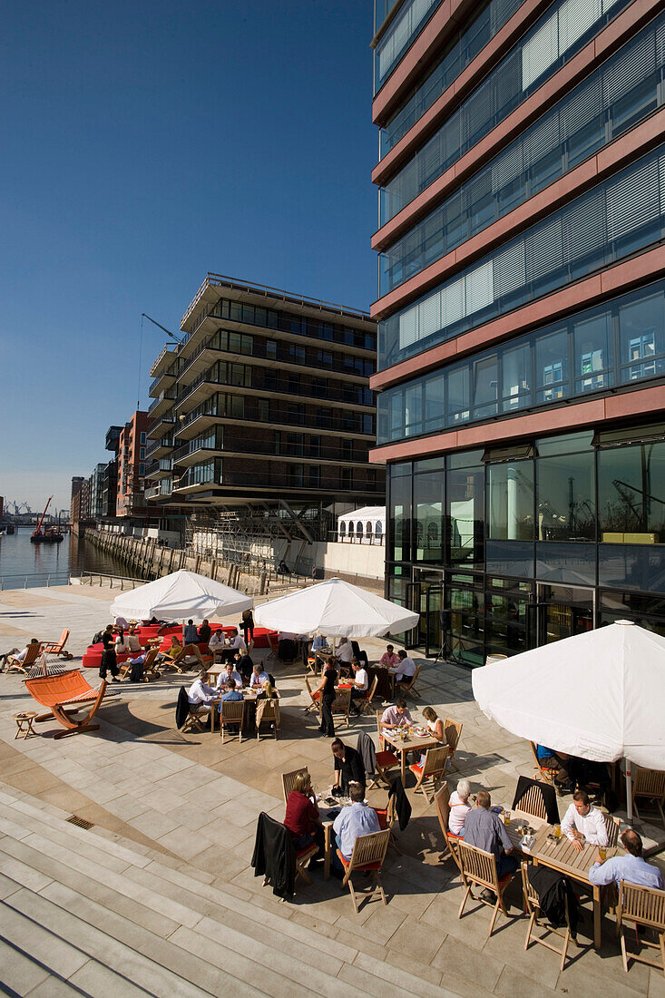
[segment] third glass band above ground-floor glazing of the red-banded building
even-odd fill
[[[381,253],[378,293],[461,246],[665,102],[665,14]]]

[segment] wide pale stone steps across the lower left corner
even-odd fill
[[[22,996],[450,995],[206,874],[0,782],[0,991]],[[196,833],[195,833],[196,834]],[[220,847],[223,848],[223,835]],[[349,907],[350,901],[344,898]],[[303,917],[306,916],[306,917]]]

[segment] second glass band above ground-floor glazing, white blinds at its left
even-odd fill
[[[378,369],[658,244],[665,225],[664,149],[642,157],[380,322]],[[593,338],[589,363],[595,370]],[[559,376],[558,371],[552,374]]]

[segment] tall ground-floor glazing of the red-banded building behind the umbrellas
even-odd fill
[[[388,471],[387,591],[412,643],[481,665],[612,620],[665,634],[665,423]]]

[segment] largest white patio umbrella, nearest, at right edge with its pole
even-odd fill
[[[665,769],[665,638],[617,621],[473,672],[480,710],[513,735],[599,762]]]

